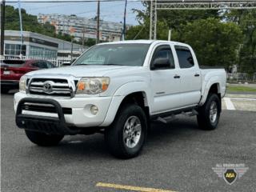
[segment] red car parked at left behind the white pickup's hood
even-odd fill
[[[53,63],[45,60],[3,60],[1,63],[1,93],[6,94],[9,90],[18,89],[19,79],[23,74],[32,70],[42,70],[55,67]]]

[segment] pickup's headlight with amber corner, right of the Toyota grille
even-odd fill
[[[81,78],[76,94],[99,94],[107,90],[110,78]]]

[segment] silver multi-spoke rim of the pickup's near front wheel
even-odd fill
[[[123,129],[123,141],[129,148],[137,146],[142,135],[142,124],[138,117],[131,116],[126,120]]]

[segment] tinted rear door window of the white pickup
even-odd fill
[[[180,68],[184,69],[194,66],[194,59],[188,47],[175,46],[175,50],[178,56],[178,63]]]

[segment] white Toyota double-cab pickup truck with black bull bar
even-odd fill
[[[39,146],[57,145],[66,134],[104,133],[111,154],[133,158],[152,120],[186,113],[215,129],[225,92],[225,70],[200,69],[184,43],[110,42],[72,66],[22,76],[14,109],[17,126]]]

